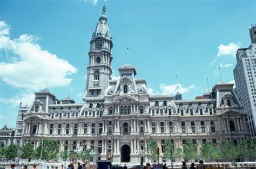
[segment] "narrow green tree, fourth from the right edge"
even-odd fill
[[[184,158],[192,161],[192,159],[198,158],[197,145],[192,142],[191,139],[187,139],[183,145]]]

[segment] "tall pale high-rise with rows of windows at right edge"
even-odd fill
[[[234,68],[235,90],[248,114],[247,125],[252,138],[256,138],[256,25],[249,29],[251,45],[237,51],[237,64]]]

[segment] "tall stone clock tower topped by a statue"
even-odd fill
[[[89,51],[89,64],[87,66],[87,79],[84,97],[103,96],[109,86],[112,74],[112,38],[110,36],[109,24],[105,15],[106,8],[103,6],[102,15],[95,31],[92,33]]]

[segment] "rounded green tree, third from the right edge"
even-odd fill
[[[217,149],[216,145],[212,142],[206,141],[200,148],[201,156],[204,160],[219,160],[220,159],[220,152]]]

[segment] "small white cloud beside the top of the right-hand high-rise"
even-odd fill
[[[241,43],[230,43],[228,45],[223,45],[221,44],[218,49],[218,54],[217,54],[217,57],[221,57],[223,55],[232,55],[232,56],[235,56],[235,52],[237,52],[238,48],[240,48],[241,46]]]

